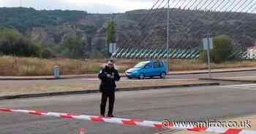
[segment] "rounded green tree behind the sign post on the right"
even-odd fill
[[[210,51],[211,61],[214,63],[222,63],[230,60],[230,55],[233,52],[233,42],[230,36],[220,35],[214,37],[214,48]],[[200,59],[207,60],[207,52],[200,52]]]

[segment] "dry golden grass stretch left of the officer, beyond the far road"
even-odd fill
[[[1,76],[45,76],[53,75],[53,66],[59,66],[60,74],[89,74],[97,72],[100,64],[88,60],[53,59],[40,58],[0,58]]]

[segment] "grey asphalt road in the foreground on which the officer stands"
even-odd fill
[[[135,119],[195,119],[237,117],[256,114],[256,85],[252,88],[234,86],[188,87],[162,90],[116,92],[117,117]],[[248,87],[248,86],[247,86]],[[42,109],[78,114],[99,114],[100,94],[66,95],[50,98],[28,98],[0,101],[1,107]],[[64,120],[54,117],[33,117],[27,114],[0,112],[1,134],[75,134],[86,127],[89,134],[157,133],[148,127],[122,126]]]

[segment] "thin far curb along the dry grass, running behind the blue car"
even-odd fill
[[[211,71],[212,74],[217,73],[228,73],[228,72],[238,72],[238,71],[256,71],[256,68],[252,69],[241,69],[241,70],[227,70],[227,71]],[[168,76],[171,75],[187,75],[187,74],[208,74],[208,71],[199,71],[199,72],[187,72],[187,73],[168,73]],[[121,77],[126,77],[125,74],[120,74]],[[80,79],[80,78],[97,78],[97,75],[89,75],[84,76],[83,74],[77,75],[77,76],[60,76],[58,79]],[[48,78],[0,78],[0,80],[56,80],[54,77],[48,77]]]

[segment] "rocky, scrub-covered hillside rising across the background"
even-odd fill
[[[119,47],[165,47],[166,9],[135,10],[113,15],[83,11],[0,8],[0,27],[16,28],[41,44],[59,44],[70,35],[82,34],[91,45],[105,47],[108,22],[114,20]],[[144,19],[143,19],[144,18]],[[143,19],[143,21],[141,21]],[[207,33],[227,34],[239,48],[256,42],[256,15],[171,9],[170,47],[198,48]]]

